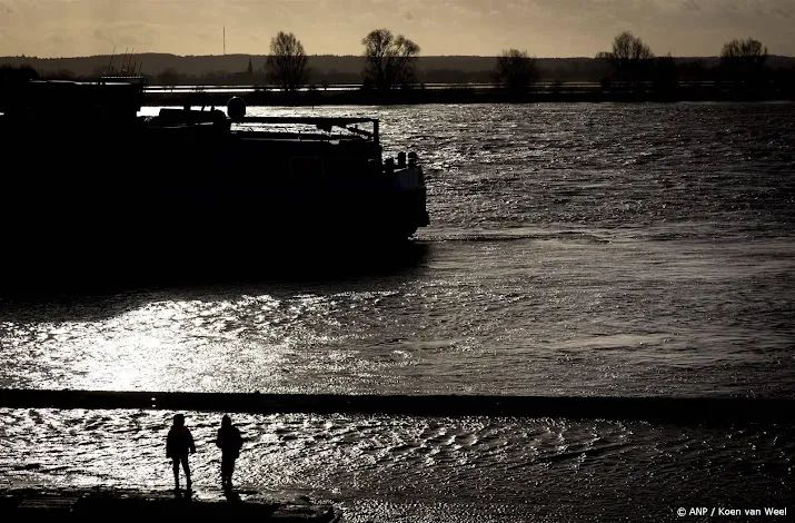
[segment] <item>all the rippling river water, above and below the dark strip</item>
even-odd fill
[[[431,226],[406,262],[7,298],[1,386],[795,397],[795,105],[249,111],[377,116],[387,154],[416,150]],[[11,483],[169,483],[170,413],[0,414]],[[215,417],[189,418],[210,437]],[[793,486],[782,426],[239,418],[245,483],[334,499],[350,521],[660,520],[679,499],[784,506]],[[208,486],[217,457],[196,457]]]

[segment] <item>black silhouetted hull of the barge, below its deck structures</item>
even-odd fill
[[[309,273],[355,265],[428,224],[419,166],[385,171],[318,145],[318,170],[285,152],[306,144],[222,132],[49,132],[2,179],[0,289]]]

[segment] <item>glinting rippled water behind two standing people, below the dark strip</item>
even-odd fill
[[[0,471],[17,484],[170,490],[163,444],[171,414],[0,409]],[[221,497],[220,452],[212,444],[218,414],[186,415],[198,451],[191,456],[195,491]],[[518,521],[545,507],[547,515],[563,513],[556,521],[586,521],[604,512],[626,516],[638,506],[664,519],[659,511],[674,502],[775,503],[791,492],[795,452],[791,428],[776,425],[726,431],[600,420],[310,414],[239,414],[236,423],[249,436],[236,473],[244,497],[252,490],[306,493],[378,521],[395,521],[386,513],[398,507],[413,515],[401,521],[454,521],[463,507],[508,511]],[[417,517],[425,511],[435,517]],[[486,521],[511,521],[498,514]]]

